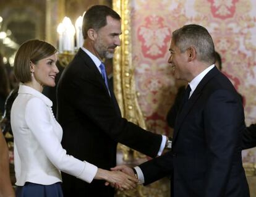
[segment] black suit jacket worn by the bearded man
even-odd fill
[[[147,132],[121,118],[119,106],[92,59],[79,49],[61,75],[57,89],[62,145],[68,154],[109,169],[116,166],[117,142],[155,157],[161,135]],[[88,184],[62,174],[64,196],[114,196],[103,181]]]

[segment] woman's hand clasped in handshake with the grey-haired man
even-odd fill
[[[118,188],[119,190],[130,190],[137,186],[137,178],[125,174],[121,171],[109,171],[98,169],[96,173],[95,179],[103,179],[106,182],[114,185],[114,187]]]

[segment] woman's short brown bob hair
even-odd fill
[[[18,49],[14,59],[14,74],[22,83],[31,82],[30,61],[36,64],[41,59],[57,52],[53,45],[41,40],[28,40]]]

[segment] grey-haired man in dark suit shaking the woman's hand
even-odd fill
[[[248,197],[241,156],[244,109],[214,65],[210,34],[200,25],[185,25],[173,32],[169,51],[174,76],[190,88],[177,114],[171,151],[135,167],[140,182],[171,175],[172,197]],[[114,170],[134,174],[125,166]]]

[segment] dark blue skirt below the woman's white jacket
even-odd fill
[[[16,188],[16,197],[63,197],[61,183],[40,185],[26,182],[24,186]]]

